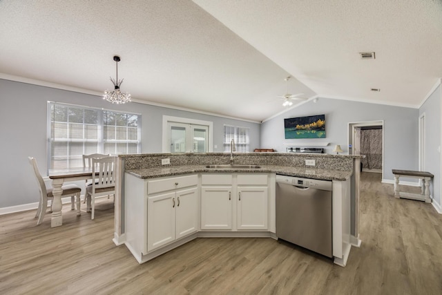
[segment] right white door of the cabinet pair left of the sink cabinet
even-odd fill
[[[186,189],[176,193],[176,238],[188,236],[198,231],[200,220],[200,198],[198,189]]]

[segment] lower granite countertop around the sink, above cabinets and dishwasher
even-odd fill
[[[353,173],[352,171],[325,170],[291,166],[260,165],[260,167],[260,169],[218,169],[206,168],[205,165],[163,166],[145,169],[131,169],[126,170],[126,173],[142,179],[182,175],[189,173],[276,173],[280,175],[296,176],[302,178],[341,181],[347,180]]]

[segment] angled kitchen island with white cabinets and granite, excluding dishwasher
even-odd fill
[[[162,159],[171,164],[162,166]],[[305,166],[305,160],[314,160],[315,166]],[[229,155],[120,155],[114,242],[124,243],[144,263],[198,237],[276,238],[275,178],[280,174],[332,181],[334,263],[345,266],[351,246],[360,244],[354,234],[358,210],[351,200],[356,197],[352,191],[358,192],[351,187],[358,184],[354,165],[359,160],[237,153],[235,164],[244,164],[241,168],[208,168],[229,162]]]

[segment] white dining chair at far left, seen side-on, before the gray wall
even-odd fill
[[[37,166],[37,160],[33,157],[28,157],[29,163],[32,166],[34,171],[35,179],[37,180],[37,184],[39,185],[40,191],[40,201],[39,207],[37,209],[37,214],[35,214],[35,218],[39,218],[37,220],[37,225],[40,225],[43,222],[44,215],[46,214],[46,209],[48,208],[48,200],[50,200],[50,211],[52,212],[52,202],[54,200],[54,196],[52,195],[52,188],[46,188],[46,184],[44,183],[43,178],[39,172]],[[77,186],[77,184],[67,184],[61,187],[63,192],[61,193],[61,197],[70,197],[71,209],[75,210],[75,197],[77,197],[77,216],[80,213],[80,194],[81,188]]]

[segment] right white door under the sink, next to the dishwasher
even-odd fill
[[[238,229],[267,229],[269,220],[267,191],[267,187],[238,187]]]

